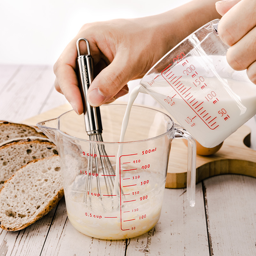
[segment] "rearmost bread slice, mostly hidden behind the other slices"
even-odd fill
[[[37,132],[32,126],[0,121],[0,143],[5,140],[28,136],[46,137],[43,132]]]

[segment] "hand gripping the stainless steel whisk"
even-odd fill
[[[85,24],[54,65],[55,88],[65,95],[78,114],[83,103],[76,78],[76,41],[89,41],[95,78],[88,89],[92,106],[109,103],[128,92],[127,82],[141,78],[168,51],[164,40],[146,18],[110,20]],[[79,44],[80,54],[86,45]]]

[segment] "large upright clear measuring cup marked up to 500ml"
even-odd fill
[[[163,112],[132,106],[124,142],[119,143],[125,109],[115,104],[100,107],[104,142],[88,140],[84,117],[73,110],[37,124],[59,151],[68,218],[88,236],[131,238],[156,225],[175,138],[189,142],[187,193],[190,205],[195,204],[195,140]],[[100,156],[102,145],[108,156]],[[119,145],[123,149],[117,156]],[[106,159],[114,173],[103,172]]]

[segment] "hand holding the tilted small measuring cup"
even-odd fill
[[[247,76],[256,84],[256,1],[219,1],[216,10],[223,16],[218,33],[230,46],[227,52],[229,65],[235,70],[247,69]]]

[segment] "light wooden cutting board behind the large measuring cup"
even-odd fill
[[[23,123],[36,125],[40,121],[58,117],[70,109],[70,105],[66,104],[24,120]],[[246,146],[250,144],[250,132],[244,125],[230,135],[214,155],[197,155],[196,183],[219,174],[242,174],[256,178],[256,151]],[[187,150],[182,140],[172,141],[166,188],[187,186]]]

